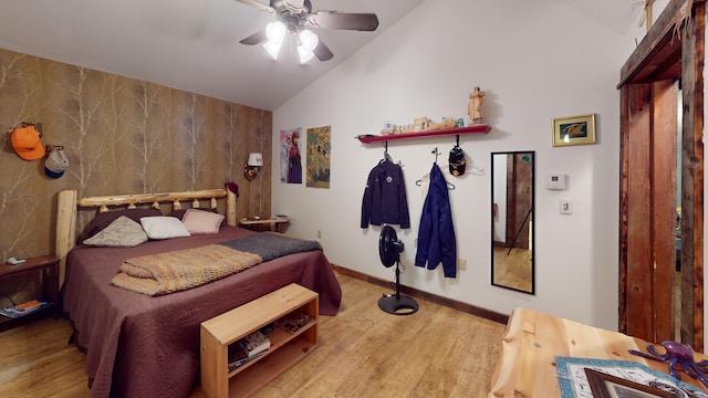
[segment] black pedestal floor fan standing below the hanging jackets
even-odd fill
[[[418,311],[418,303],[412,297],[400,295],[400,252],[403,242],[398,240],[396,230],[384,226],[378,237],[378,255],[385,268],[396,264],[396,293],[384,294],[378,298],[378,307],[394,315],[410,315]]]

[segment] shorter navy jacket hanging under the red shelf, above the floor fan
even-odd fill
[[[382,160],[374,166],[366,180],[362,199],[362,228],[368,224],[399,224],[410,228],[406,185],[400,166]]]

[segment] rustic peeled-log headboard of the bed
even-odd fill
[[[181,209],[183,201],[191,201],[192,208],[199,207],[200,199],[209,199],[210,207],[216,209],[217,199],[226,197],[226,222],[236,226],[236,195],[226,189],[209,189],[199,191],[165,192],[165,193],[137,193],[117,195],[105,197],[88,197],[77,199],[75,189],[65,189],[59,192],[56,205],[56,242],[55,255],[61,260],[59,270],[59,284],[64,284],[66,270],[66,254],[76,241],[76,217],[79,208],[98,208],[98,212],[108,211],[111,206],[125,206],[134,209],[137,205],[150,203],[159,209],[159,203],[171,202],[173,210]]]

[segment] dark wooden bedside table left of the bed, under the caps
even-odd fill
[[[8,263],[0,264],[0,281],[28,274],[31,272],[41,273],[42,277],[42,300],[51,302],[53,305],[46,308],[41,308],[32,314],[10,318],[0,315],[0,329],[7,329],[14,326],[22,320],[32,318],[37,314],[42,314],[48,310],[54,311],[54,320],[59,318],[59,259],[53,255],[42,255],[37,258],[27,259],[25,262],[18,265],[11,265]]]

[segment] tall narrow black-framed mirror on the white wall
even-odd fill
[[[491,284],[534,294],[532,150],[491,154]]]

